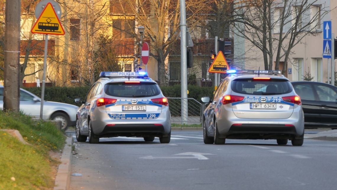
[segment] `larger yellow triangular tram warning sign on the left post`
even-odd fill
[[[62,24],[50,2],[44,7],[31,32],[35,34],[64,35]]]

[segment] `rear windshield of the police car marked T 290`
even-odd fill
[[[109,96],[136,98],[151,97],[160,94],[160,88],[156,83],[108,83],[104,86],[104,91]]]

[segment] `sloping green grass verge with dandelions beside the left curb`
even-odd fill
[[[18,130],[28,144],[0,131],[0,189],[53,189],[59,163],[50,151],[61,151],[66,136],[50,121],[0,110],[0,129]]]

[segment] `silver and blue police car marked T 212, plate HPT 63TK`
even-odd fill
[[[301,146],[304,114],[301,99],[280,71],[228,70],[203,115],[204,143],[226,139],[276,139]]]

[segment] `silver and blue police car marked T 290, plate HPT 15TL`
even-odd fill
[[[76,140],[98,143],[101,137],[171,140],[167,98],[146,72],[101,72],[76,116]]]

